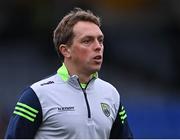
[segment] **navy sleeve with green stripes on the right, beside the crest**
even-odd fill
[[[111,128],[110,139],[133,139],[133,135],[127,121],[127,114],[121,103],[118,114]]]

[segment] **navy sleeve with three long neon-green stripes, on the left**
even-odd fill
[[[33,139],[42,122],[38,97],[29,87],[17,102],[6,130],[5,139]]]

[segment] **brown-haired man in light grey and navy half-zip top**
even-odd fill
[[[5,138],[132,138],[120,95],[98,78],[104,35],[100,19],[75,8],[54,31],[62,66],[23,91]]]

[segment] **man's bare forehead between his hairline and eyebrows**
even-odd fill
[[[75,37],[84,37],[84,36],[103,36],[103,33],[99,26],[92,22],[79,21],[73,27],[73,32]]]

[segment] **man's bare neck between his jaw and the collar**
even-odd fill
[[[69,75],[77,75],[79,77],[80,83],[88,83],[88,81],[91,79],[91,74],[78,71],[76,68],[74,68],[73,64],[67,63],[66,61],[64,61],[64,64],[68,70]]]

